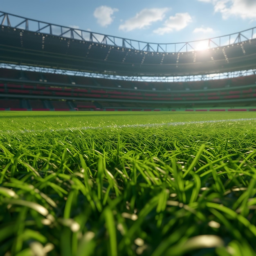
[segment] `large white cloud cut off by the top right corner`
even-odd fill
[[[198,0],[200,2],[211,2],[215,12],[220,12],[223,19],[237,16],[243,19],[256,20],[255,0]]]

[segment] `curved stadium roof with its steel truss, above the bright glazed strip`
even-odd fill
[[[256,28],[194,42],[155,44],[0,12],[0,62],[121,76],[188,76],[256,68]]]

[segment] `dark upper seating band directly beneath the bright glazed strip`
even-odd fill
[[[148,82],[148,81],[127,81],[118,79],[93,78],[86,76],[75,76],[67,74],[54,74],[45,72],[22,71],[15,69],[0,68],[0,78],[20,81],[33,81],[34,83],[56,83],[62,85],[88,85],[97,87],[112,87],[116,89],[129,90],[208,90],[218,88],[236,88],[238,86],[254,84],[256,74],[226,79],[213,79],[206,81],[175,81],[173,82]],[[57,90],[57,89],[56,89]]]

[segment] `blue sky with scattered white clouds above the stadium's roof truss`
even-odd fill
[[[1,0],[0,11],[149,43],[256,27],[256,0]]]

